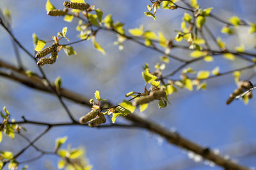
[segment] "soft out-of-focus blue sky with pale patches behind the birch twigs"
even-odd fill
[[[95,4],[104,15],[113,14],[113,20],[124,22],[125,30],[134,29],[144,25],[145,30],[163,32],[166,38],[174,38],[175,30],[180,29],[180,22],[184,10],[157,10],[156,21],[145,17],[147,5],[150,1],[136,0],[97,0],[86,1]],[[67,37],[70,41],[77,41],[76,26],[78,20],[70,22],[63,21],[62,17],[49,17],[45,11],[46,1],[8,1],[1,0],[1,10],[7,8],[12,13],[12,30],[17,39],[22,42],[30,52],[33,52],[32,34],[36,33],[38,38],[45,41],[51,40],[63,27],[68,27]],[[57,8],[63,8],[63,1],[51,3]],[[201,8],[213,7],[212,13],[224,20],[236,15],[246,21],[256,22],[255,0],[228,0],[228,1],[198,1]],[[180,3],[182,4],[182,3]],[[183,4],[182,4],[183,5]],[[207,18],[206,24],[214,32],[227,42],[227,47],[233,49],[244,43],[246,51],[253,51],[256,45],[255,36],[246,34],[246,27],[237,30],[234,36],[221,34],[224,25]],[[245,33],[244,33],[245,32]],[[141,77],[142,66],[148,62],[153,70],[156,62],[161,62],[160,53],[148,50],[143,46],[125,41],[124,50],[119,51],[118,46],[113,45],[116,41],[115,34],[100,31],[97,34],[97,42],[102,45],[106,55],[93,49],[92,41],[83,41],[74,46],[77,55],[67,57],[63,51],[58,54],[58,60],[52,66],[44,66],[50,80],[54,81],[61,76],[63,87],[72,89],[79,94],[93,98],[95,90],[100,91],[100,96],[109,99],[112,103],[120,103],[125,99],[124,94],[130,91],[143,92],[144,80]],[[64,39],[61,42],[67,43]],[[212,43],[211,43],[212,44]],[[31,60],[22,50],[19,50],[22,62],[27,69],[38,73],[35,62]],[[189,59],[189,51],[172,50],[172,54]],[[0,59],[16,64],[10,36],[0,28]],[[179,62],[170,60],[163,74],[178,67]],[[237,67],[246,66],[248,63],[236,59],[234,62],[216,57],[214,62],[196,62],[190,65],[195,70],[211,71],[220,66],[220,72],[225,72]],[[242,79],[250,77],[253,69],[244,71]],[[38,73],[39,74],[39,73]],[[179,78],[179,74],[177,74]],[[255,83],[255,78],[252,79]],[[6,106],[12,118],[20,120],[22,115],[29,120],[40,120],[48,122],[65,122],[68,117],[65,110],[55,96],[38,92],[19,83],[0,77],[0,107]],[[217,153],[230,156],[232,159],[249,167],[256,167],[256,100],[250,100],[245,105],[243,101],[234,101],[226,105],[229,94],[236,89],[232,74],[207,80],[206,90],[186,89],[178,90],[168,99],[171,105],[158,109],[157,103],[150,103],[142,117],[150,118],[158,124],[172,131],[179,132],[185,138],[195,141],[202,146],[209,146]],[[253,92],[254,93],[254,92]],[[90,108],[79,104],[65,101],[68,108],[76,118],[87,113]],[[117,122],[125,122],[118,118]],[[28,131],[26,136],[33,139],[44,127],[24,125]],[[86,157],[93,169],[221,169],[209,162],[198,161],[193,153],[167,143],[161,136],[156,136],[141,129],[91,129],[87,127],[55,127],[51,129],[42,139],[36,142],[38,147],[52,151],[55,139],[68,136],[68,143],[72,147],[82,146],[86,148]],[[19,152],[27,143],[17,136],[15,140],[3,136],[0,150]],[[31,159],[38,155],[33,148],[29,148],[19,161]],[[58,158],[46,155],[40,160],[31,162],[28,169],[57,169]],[[5,167],[7,169],[7,167]]]

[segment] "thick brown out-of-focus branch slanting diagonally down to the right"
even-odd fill
[[[1,63],[1,61],[0,61],[0,63]],[[3,65],[6,65],[6,63],[0,64],[0,66],[3,66]],[[13,66],[8,66],[8,67],[13,68]],[[28,87],[33,88],[33,89],[42,90],[44,92],[48,92],[48,93],[52,94],[52,91],[49,90],[49,87],[45,86],[44,83],[42,83],[43,78],[42,78],[42,81],[35,81],[35,80],[33,80],[33,78],[29,78],[28,76],[25,76],[24,74],[19,74],[19,73],[15,72],[14,69],[12,70],[12,72],[15,74],[7,74],[7,73],[3,73],[3,71],[2,71],[2,72],[0,72],[0,76],[10,78],[14,81],[22,83]],[[75,103],[80,103],[80,104],[84,104],[86,106],[91,107],[90,103],[88,102],[88,97],[81,96],[79,94],[76,94],[75,92],[72,92],[72,91],[64,89],[64,88],[60,89],[60,94],[61,94],[61,96],[66,97],[67,99],[70,99],[71,101],[74,101]],[[109,105],[113,106],[113,104],[111,104],[111,103],[109,103]],[[148,131],[152,131],[156,134],[159,134],[160,136],[163,136],[163,138],[165,138],[166,141],[168,141],[169,143],[179,146],[180,148],[183,148],[185,150],[190,150],[191,152],[195,152],[196,154],[204,157],[204,159],[211,160],[215,164],[225,167],[226,169],[247,169],[244,166],[240,166],[240,165],[236,164],[235,162],[232,162],[230,160],[227,160],[227,159],[221,157],[221,155],[218,155],[218,154],[212,152],[209,148],[205,148],[203,146],[197,145],[196,143],[193,143],[192,141],[189,141],[188,139],[180,136],[177,132],[172,132],[172,131],[162,127],[161,125],[158,125],[158,124],[156,124],[150,120],[147,120],[145,118],[141,118],[138,115],[131,113],[131,114],[127,115],[127,117],[124,117],[124,118],[126,118],[127,120],[130,120],[135,125],[140,125],[140,127],[143,127],[145,129],[147,129]],[[15,123],[16,124],[35,123],[38,125],[49,125],[50,127],[53,126],[52,124],[42,123],[42,122],[40,122],[40,123],[33,122],[33,121],[26,120],[26,119],[24,119],[24,121],[22,121],[22,122],[15,122]],[[55,124],[55,126],[58,126],[58,125],[79,125],[79,124],[77,124],[76,122]],[[113,127],[114,125],[102,125],[100,127]],[[122,125],[120,125],[120,126],[117,125],[117,127],[122,127]]]

